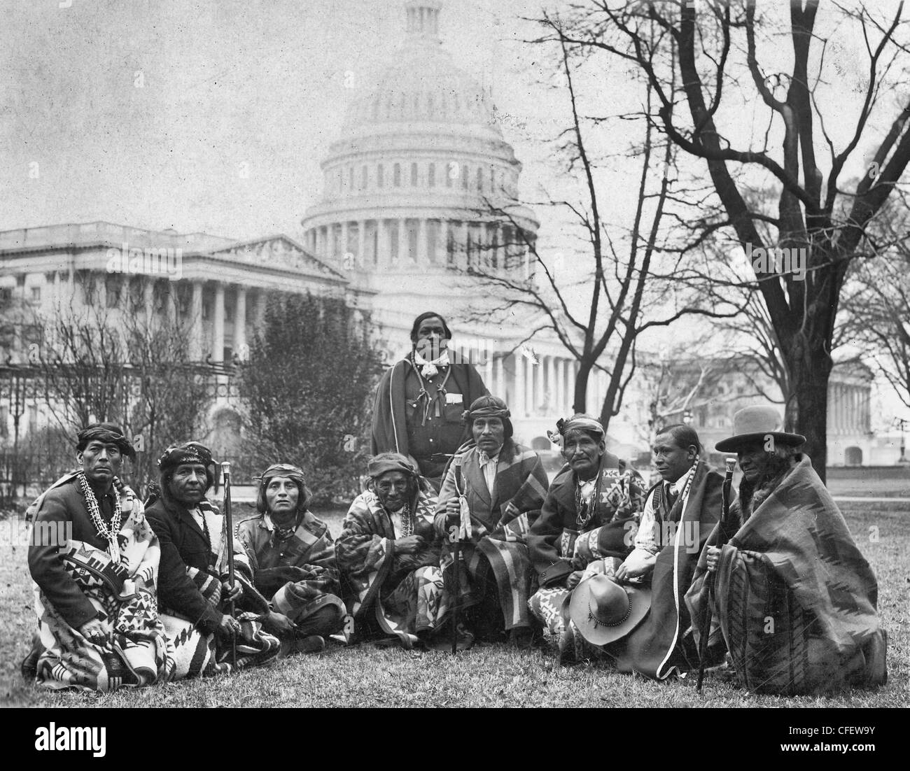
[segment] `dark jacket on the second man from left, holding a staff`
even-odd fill
[[[161,546],[158,566],[158,607],[186,616],[204,635],[215,631],[224,615],[202,596],[187,567],[212,573],[209,545],[202,528],[184,506],[167,504],[163,498],[146,509]]]

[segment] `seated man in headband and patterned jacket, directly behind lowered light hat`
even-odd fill
[[[569,601],[585,569],[612,573],[632,551],[632,529],[644,506],[642,477],[607,452],[601,422],[589,415],[557,424],[566,466],[553,479],[528,548],[541,588],[534,616],[558,640],[560,661],[583,652],[570,624]]]

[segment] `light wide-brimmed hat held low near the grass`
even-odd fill
[[[610,576],[585,578],[571,593],[569,615],[591,645],[628,635],[651,608],[651,587],[617,584]]]

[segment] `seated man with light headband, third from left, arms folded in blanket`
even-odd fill
[[[308,510],[310,498],[297,466],[268,466],[259,477],[259,516],[238,525],[253,584],[269,598],[263,625],[284,654],[322,650],[343,626],[335,544],[329,526]]]

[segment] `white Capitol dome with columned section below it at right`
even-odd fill
[[[471,349],[490,391],[509,402],[517,436],[546,449],[545,427],[569,411],[577,365],[555,339],[520,351],[539,324],[492,324],[478,309],[501,304],[497,287],[464,274],[476,265],[525,275],[539,222],[518,200],[521,163],[490,95],[442,46],[442,4],[403,5],[402,45],[377,85],[354,93],[322,161],[304,245],[370,296],[394,355],[410,350],[416,315],[445,315],[456,347]]]

